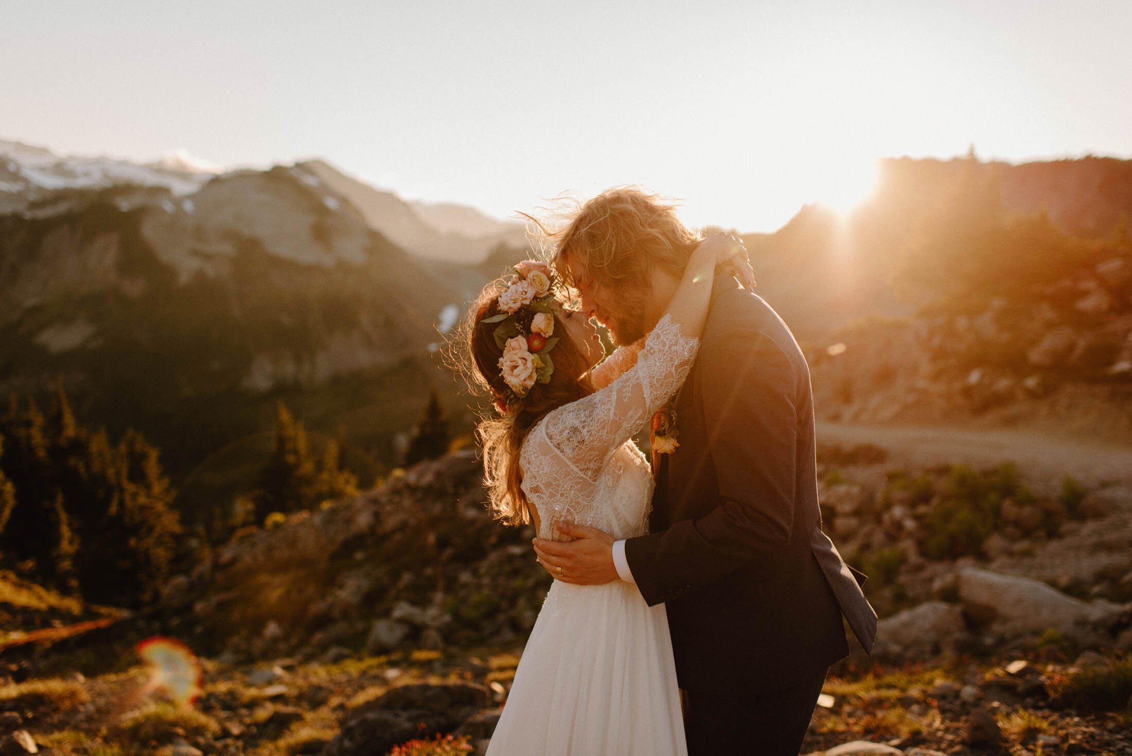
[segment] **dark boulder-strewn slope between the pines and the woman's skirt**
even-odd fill
[[[200,638],[235,658],[521,637],[550,578],[531,569],[529,531],[491,519],[481,478],[471,450],[423,462],[229,542],[170,593],[187,593]]]

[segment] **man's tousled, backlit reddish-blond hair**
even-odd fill
[[[534,221],[552,246],[552,264],[560,278],[577,287],[569,268],[578,263],[585,275],[606,287],[617,287],[623,300],[643,301],[660,268],[681,276],[701,235],[680,222],[677,204],[641,187],[614,187],[585,204],[560,199],[556,213],[565,221],[557,230]]]

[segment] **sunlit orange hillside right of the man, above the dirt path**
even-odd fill
[[[820,416],[1132,440],[1130,215],[1127,161],[901,160],[748,246]]]

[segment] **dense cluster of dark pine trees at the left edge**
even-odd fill
[[[50,422],[15,400],[0,419],[0,551],[35,579],[136,607],[169,574],[180,523],[157,450],[136,431],[115,447],[80,427],[62,384]]]

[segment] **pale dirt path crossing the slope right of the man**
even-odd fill
[[[1056,486],[1073,475],[1087,486],[1132,482],[1132,446],[1090,444],[1013,430],[949,427],[817,423],[817,438],[842,446],[875,444],[889,450],[894,467],[1013,462],[1034,486]]]

